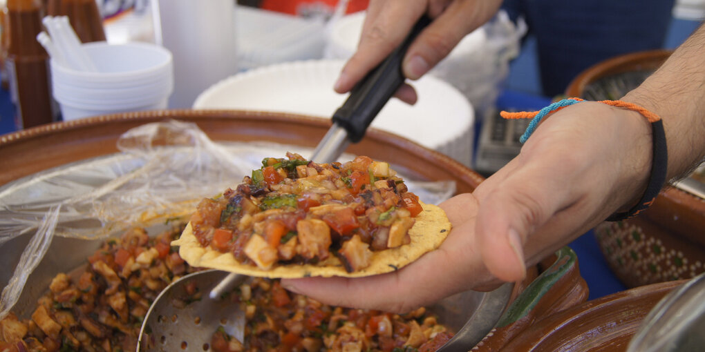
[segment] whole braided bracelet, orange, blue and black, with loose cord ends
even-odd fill
[[[563,99],[561,101],[556,101],[556,103],[552,103],[551,105],[542,108],[540,111],[517,113],[509,113],[507,111],[502,111],[500,115],[503,118],[508,119],[533,119],[531,122],[529,122],[529,127],[527,127],[526,132],[524,132],[524,134],[522,134],[522,137],[519,139],[520,142],[524,143],[527,139],[529,139],[529,137],[531,137],[532,133],[534,133],[534,130],[536,130],[537,126],[539,125],[539,122],[541,122],[541,120],[546,117],[546,115],[548,115],[549,113],[554,113],[562,108],[565,108],[566,106],[570,106],[575,103],[580,103],[580,101],[583,101],[583,99],[568,98]],[[632,111],[636,111],[637,113],[642,114],[644,118],[646,118],[646,120],[651,122],[653,158],[651,160],[651,175],[649,175],[649,184],[646,186],[646,191],[644,191],[642,199],[639,200],[639,203],[637,203],[636,206],[632,207],[630,210],[627,210],[624,213],[615,213],[609,218],[607,218],[607,220],[617,221],[632,218],[641,213],[642,211],[646,210],[646,208],[649,208],[649,206],[651,206],[651,203],[654,203],[654,199],[656,199],[656,196],[658,196],[658,192],[661,191],[661,188],[663,188],[663,184],[666,182],[666,171],[668,170],[668,149],[666,147],[666,132],[663,130],[663,121],[661,121],[661,118],[655,113],[652,113],[651,111],[648,111],[635,103],[627,103],[626,101],[621,100],[603,100],[597,102],[606,103],[608,105],[615,106],[618,108],[626,108]]]

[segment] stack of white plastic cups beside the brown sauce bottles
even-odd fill
[[[97,72],[51,60],[51,87],[63,120],[166,108],[174,85],[170,51],[141,42],[82,46]]]

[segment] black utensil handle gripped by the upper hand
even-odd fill
[[[429,23],[431,18],[423,15],[404,42],[353,87],[343,106],[333,114],[333,123],[348,131],[350,142],[360,142],[374,117],[404,82],[401,70],[404,55],[411,42]]]

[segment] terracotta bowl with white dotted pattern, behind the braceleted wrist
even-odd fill
[[[576,77],[565,94],[619,99],[639,84],[639,75],[656,70],[670,53],[644,51],[603,61]],[[702,184],[696,176],[685,181]],[[595,236],[615,275],[627,287],[637,287],[704,272],[704,229],[705,199],[675,184],[663,189],[649,210],[630,220],[603,222]]]

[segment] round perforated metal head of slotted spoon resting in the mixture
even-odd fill
[[[210,351],[210,339],[222,327],[244,341],[245,312],[228,293],[245,275],[223,282],[228,272],[194,272],[169,284],[149,307],[137,339],[137,351]],[[219,296],[211,295],[219,284]],[[215,297],[212,297],[215,296]]]

